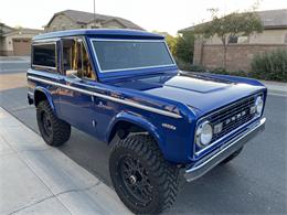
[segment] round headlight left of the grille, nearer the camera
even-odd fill
[[[196,143],[206,147],[212,140],[212,126],[209,121],[202,122],[196,130]]]

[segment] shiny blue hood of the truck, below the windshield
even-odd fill
[[[251,84],[244,79],[234,80],[228,76],[211,74],[178,73],[126,78],[113,85],[176,100],[201,112],[208,112],[265,88],[257,80]]]

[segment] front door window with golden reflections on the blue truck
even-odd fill
[[[64,73],[74,74],[79,78],[96,79],[83,40],[64,39],[62,44]]]

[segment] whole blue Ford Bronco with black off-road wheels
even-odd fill
[[[264,85],[181,72],[164,37],[142,31],[38,35],[26,77],[47,144],[66,142],[71,126],[107,143],[117,137],[110,178],[137,214],[170,207],[182,175],[190,182],[227,163],[265,125]]]

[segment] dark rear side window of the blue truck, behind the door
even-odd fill
[[[56,44],[33,44],[33,65],[56,67]]]

